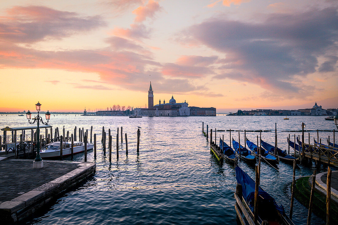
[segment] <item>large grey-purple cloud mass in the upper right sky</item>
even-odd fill
[[[210,19],[183,31],[182,40],[200,43],[226,57],[215,78],[229,77],[283,92],[302,93],[294,75],[316,71],[318,57],[338,49],[337,8],[271,14],[261,22]],[[337,51],[336,51],[337,52]],[[331,55],[331,54],[330,54]],[[229,57],[227,57],[229,56]],[[332,70],[335,56],[321,66]],[[231,71],[231,72],[229,72]]]

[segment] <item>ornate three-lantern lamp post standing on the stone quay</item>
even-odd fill
[[[42,117],[39,116],[41,104],[38,102],[37,104],[35,104],[35,106],[38,110],[38,116],[36,116],[34,118],[34,121],[30,122],[30,119],[32,117],[32,113],[29,110],[26,113],[26,116],[27,116],[27,119],[28,119],[28,123],[34,124],[35,121],[36,121],[37,125],[38,125],[38,128],[37,128],[37,157],[33,161],[33,168],[42,168],[43,167],[43,161],[42,161],[42,158],[40,157],[40,128],[39,128],[39,125],[40,125],[40,122],[42,124],[45,124],[45,125],[48,124],[49,119],[50,119],[50,113],[49,113],[49,111],[47,111],[47,113],[45,113],[47,122],[43,122]]]

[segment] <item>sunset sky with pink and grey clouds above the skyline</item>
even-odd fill
[[[0,111],[338,108],[336,0],[3,0]]]

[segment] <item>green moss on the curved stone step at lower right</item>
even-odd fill
[[[294,197],[305,207],[309,208],[311,187],[309,177],[302,177],[296,180]],[[326,221],[326,197],[314,192],[312,212]],[[338,205],[331,200],[331,223],[338,222]]]

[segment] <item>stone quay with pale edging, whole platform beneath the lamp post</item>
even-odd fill
[[[33,169],[32,159],[0,161],[0,218],[15,223],[34,214],[60,194],[91,176],[95,163],[44,160]]]

